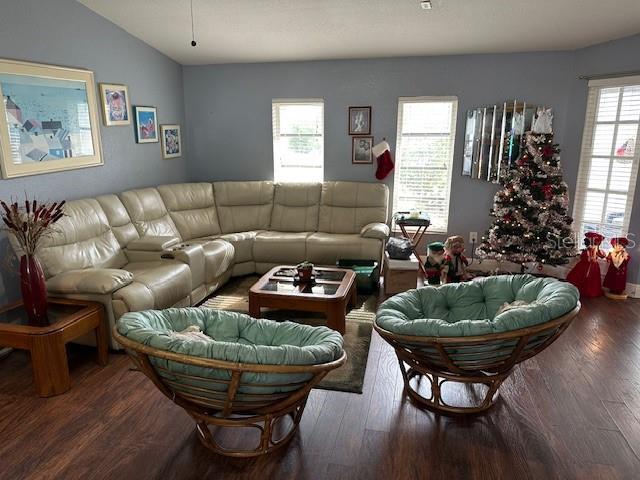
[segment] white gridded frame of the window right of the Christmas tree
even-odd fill
[[[620,226],[621,235],[629,234],[629,225],[631,222],[631,214],[633,210],[633,201],[637,187],[638,168],[640,166],[640,116],[636,120],[620,120],[620,111],[622,109],[622,98],[624,87],[640,86],[640,75],[606,78],[590,80],[588,83],[587,106],[585,112],[584,127],[582,132],[582,145],[580,148],[580,160],[578,167],[578,176],[576,179],[576,193],[573,202],[573,219],[576,225],[577,234],[584,233],[582,229],[585,224],[597,225],[597,230],[603,232],[610,228],[617,228],[613,223],[606,222],[607,200],[610,195],[626,195],[627,201],[625,205],[625,215]],[[602,91],[607,88],[620,88],[618,103],[616,107],[616,116],[614,120],[598,121],[600,108],[600,98]],[[632,157],[620,157],[615,155],[616,139],[618,136],[618,128],[620,125],[637,124],[634,155]],[[607,155],[594,155],[593,146],[595,133],[598,125],[613,125],[611,151]],[[606,158],[609,160],[609,167],[606,177],[605,188],[589,187],[589,177],[593,158]],[[615,159],[628,159],[632,161],[629,186],[626,191],[611,188],[611,176]],[[586,210],[586,200],[588,192],[597,192],[604,194],[602,215],[600,222],[586,221],[584,214]],[[610,239],[607,239],[607,241]]]

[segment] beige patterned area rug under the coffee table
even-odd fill
[[[200,306],[248,313],[249,289],[259,278],[256,275],[232,278]],[[358,295],[356,307],[346,318],[344,349],[347,352],[347,361],[342,367],[329,372],[318,385],[319,388],[362,393],[376,306],[375,295]],[[262,317],[277,321],[291,320],[313,326],[325,324],[322,314],[312,312],[263,309]]]

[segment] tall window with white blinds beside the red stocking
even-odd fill
[[[456,97],[398,101],[393,209],[427,212],[431,232],[447,231],[457,110]]]

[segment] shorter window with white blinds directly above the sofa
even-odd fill
[[[324,102],[274,100],[273,176],[276,182],[324,180]]]

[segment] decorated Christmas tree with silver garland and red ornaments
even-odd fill
[[[493,224],[478,247],[480,258],[522,265],[561,265],[576,254],[562,179],[558,145],[552,134],[528,132],[520,157],[496,193]]]

